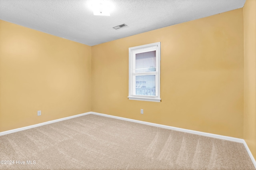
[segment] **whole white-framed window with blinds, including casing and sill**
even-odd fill
[[[161,101],[160,51],[160,42],[129,48],[129,99]]]

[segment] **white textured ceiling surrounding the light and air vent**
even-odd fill
[[[245,0],[108,0],[110,16],[94,16],[88,0],[0,0],[0,20],[96,45],[242,8]],[[120,24],[128,26],[115,30]]]

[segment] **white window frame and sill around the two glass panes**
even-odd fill
[[[152,49],[156,49],[156,65],[157,70],[152,72],[146,72],[146,73],[133,73],[133,67],[135,67],[135,55],[136,53],[143,53],[152,51]],[[128,99],[130,100],[140,100],[140,101],[155,101],[160,102],[160,63],[161,63],[161,43],[150,43],[146,45],[140,45],[136,47],[130,47],[129,48],[129,96]],[[156,86],[158,87],[158,93],[156,96],[145,96],[145,95],[134,95],[134,91],[132,91],[133,84],[136,83],[136,80],[133,79],[133,75],[154,75],[156,74],[158,78],[156,78]]]

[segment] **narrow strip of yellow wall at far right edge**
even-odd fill
[[[244,139],[256,158],[256,0],[244,11]]]

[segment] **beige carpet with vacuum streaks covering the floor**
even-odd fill
[[[255,170],[241,143],[97,115],[0,136],[0,160],[14,160],[1,170]]]

